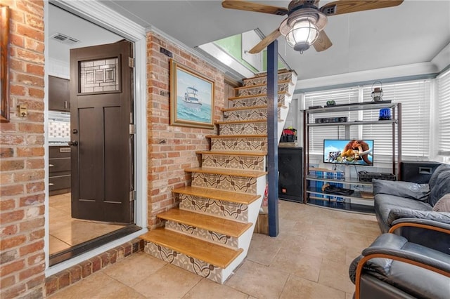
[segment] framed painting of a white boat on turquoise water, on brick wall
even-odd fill
[[[214,128],[214,81],[170,60],[170,125]]]

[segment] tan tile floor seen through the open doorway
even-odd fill
[[[49,197],[50,254],[113,232],[124,225],[77,220],[70,217],[70,193]]]

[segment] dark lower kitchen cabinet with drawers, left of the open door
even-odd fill
[[[70,192],[70,147],[49,147],[49,194]]]

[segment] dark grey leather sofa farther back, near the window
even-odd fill
[[[449,193],[449,164],[437,167],[428,184],[373,180],[375,216],[381,232],[389,232],[392,223],[401,218],[435,220],[450,224],[450,211],[433,211],[437,201]]]

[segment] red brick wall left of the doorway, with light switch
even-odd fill
[[[39,298],[44,284],[44,2],[11,8],[11,121],[0,125],[1,298]],[[17,106],[28,116],[18,117]]]

